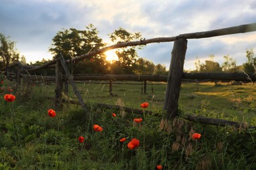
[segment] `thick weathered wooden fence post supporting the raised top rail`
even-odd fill
[[[163,109],[167,110],[167,119],[174,118],[178,113],[178,101],[181,90],[181,79],[187,42],[188,41],[186,39],[177,39],[173,44],[163,106]]]

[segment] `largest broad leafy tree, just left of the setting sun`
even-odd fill
[[[77,30],[74,28],[64,29],[58,31],[58,33],[53,38],[53,44],[49,48],[54,57],[59,58],[60,52],[65,59],[75,58],[75,56],[80,56],[86,54],[93,50],[98,50],[104,47],[106,44],[98,36],[98,31],[93,24],[89,24],[85,30]],[[97,69],[98,67],[103,67],[105,64],[104,54],[98,54],[94,58],[96,64],[87,65],[91,68],[86,69]],[[74,63],[74,68],[78,67],[78,63]],[[83,69],[83,68],[79,68]],[[81,70],[79,71],[81,72]]]

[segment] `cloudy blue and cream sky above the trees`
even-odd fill
[[[49,48],[58,31],[85,30],[89,24],[110,42],[108,34],[119,27],[152,39],[256,22],[255,0],[0,0],[0,4],[0,33],[16,42],[28,63],[53,58]],[[147,44],[138,53],[169,69],[172,48],[173,42]],[[188,39],[184,69],[195,69],[196,58],[203,63],[210,55],[220,64],[229,55],[241,65],[249,48],[256,50],[256,31]]]

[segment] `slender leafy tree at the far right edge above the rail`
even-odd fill
[[[245,73],[256,72],[256,58],[252,48],[246,50],[246,58],[247,61],[243,64]]]

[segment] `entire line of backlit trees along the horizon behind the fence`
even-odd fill
[[[98,33],[93,24],[87,25],[85,30],[75,28],[62,29],[53,37],[53,43],[49,47],[49,52],[53,54],[53,59],[60,58],[60,52],[65,59],[70,59],[109,45],[99,37]],[[121,27],[108,36],[113,44],[142,40],[140,32],[130,33]],[[164,65],[160,63],[154,64],[152,61],[139,57],[137,50],[142,48],[143,46],[118,48],[115,51],[118,59],[111,62],[106,60],[106,54],[98,54],[83,61],[71,63],[69,65],[70,71],[72,71],[72,74],[167,75],[168,72]],[[214,55],[209,56],[209,59],[206,59],[204,63],[201,63],[200,59],[196,59],[196,69],[190,72],[219,73],[245,71],[245,73],[254,73],[256,71],[256,58],[252,48],[246,50],[245,57],[247,61],[242,65],[236,65],[236,60],[229,55],[223,57],[224,63],[222,65],[214,61]],[[10,37],[5,37],[5,35],[0,33],[1,71],[16,61],[28,65],[25,56],[20,56],[16,50],[15,42],[12,42]],[[43,65],[48,61],[42,59],[41,61],[30,63],[30,65]],[[54,69],[35,72],[39,75],[54,75]]]

